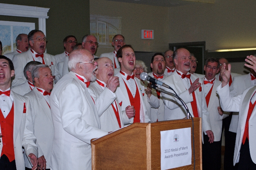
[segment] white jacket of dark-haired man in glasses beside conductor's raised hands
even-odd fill
[[[201,78],[202,82],[204,81],[204,78]],[[215,79],[213,87],[212,87],[212,93],[210,96],[209,104],[208,104],[208,112],[212,127],[212,132],[214,134],[214,142],[220,141],[221,138],[221,132],[222,132],[222,118],[223,116],[220,116],[218,112],[218,107],[220,107],[220,98],[216,92],[217,87],[221,84],[221,81]],[[224,115],[224,114],[223,114]],[[228,115],[224,115],[228,116]]]

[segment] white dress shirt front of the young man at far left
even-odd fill
[[[11,88],[8,88],[5,91],[10,90]],[[0,91],[4,92],[3,90],[0,89]],[[7,117],[9,112],[12,109],[12,103],[13,103],[13,98],[12,98],[12,93],[10,93],[10,97],[6,96],[5,94],[0,95],[0,109],[4,115],[4,118]]]

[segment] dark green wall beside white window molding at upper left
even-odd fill
[[[86,34],[90,34],[90,0],[46,0],[19,1],[1,0],[4,4],[16,4],[50,8],[46,19],[47,53],[56,55],[64,51],[63,39],[74,35],[79,43]],[[0,15],[2,21],[34,22],[38,29],[37,18]]]

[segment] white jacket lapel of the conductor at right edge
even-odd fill
[[[250,100],[251,100],[255,90],[256,90],[256,86],[253,86],[251,89],[249,89],[247,91],[247,93],[245,94],[245,96],[244,96],[242,106],[240,104],[240,107],[241,107],[241,112],[240,112],[240,114],[241,114],[241,125],[240,126],[241,126],[242,129],[245,126],[245,122],[246,122],[247,114],[248,114],[248,110],[249,110]],[[255,110],[255,109],[253,109],[253,110]]]

